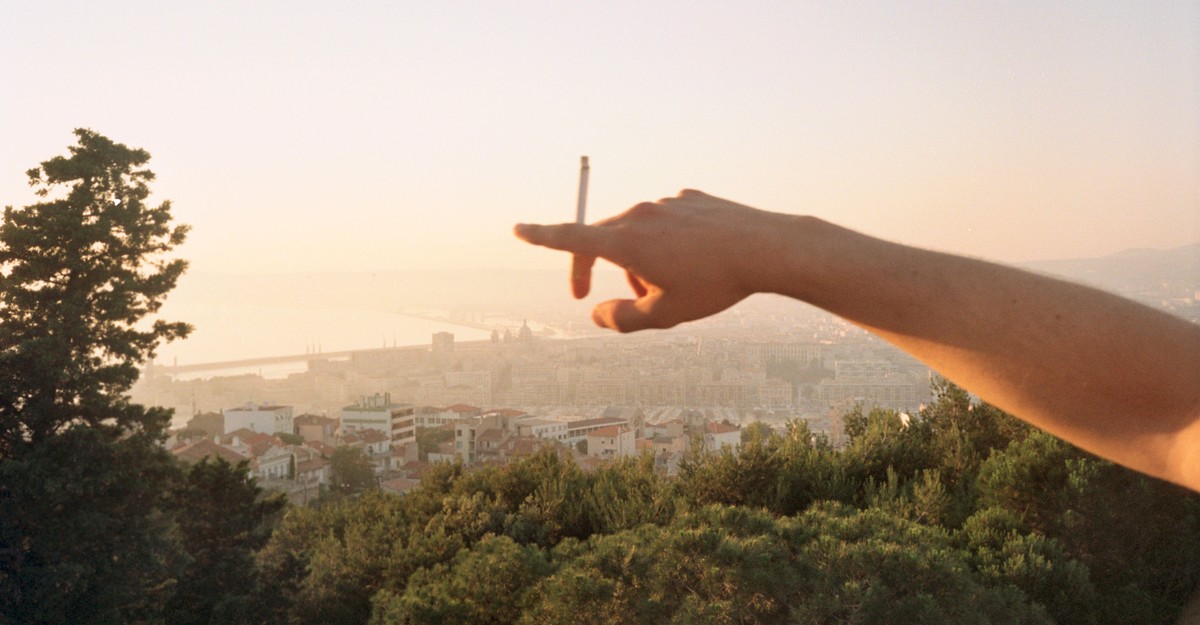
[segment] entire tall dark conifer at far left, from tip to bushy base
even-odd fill
[[[148,204],[150,155],[77,130],[0,223],[0,623],[151,619],[179,564],[162,513],[170,413],[130,402],[188,326],[148,317],[187,229]]]

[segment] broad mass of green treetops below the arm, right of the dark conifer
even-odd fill
[[[953,386],[847,429],[752,432],[676,479],[648,456],[443,464],[289,513],[266,594],[289,623],[1100,624],[1170,623],[1200,583],[1194,494]]]

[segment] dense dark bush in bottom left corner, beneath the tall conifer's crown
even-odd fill
[[[186,554],[164,513],[174,461],[144,438],[72,427],[0,461],[0,623],[161,611]]]

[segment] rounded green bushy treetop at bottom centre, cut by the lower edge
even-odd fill
[[[522,623],[782,623],[793,565],[772,517],[704,509],[554,551]]]

